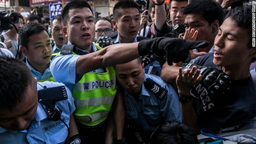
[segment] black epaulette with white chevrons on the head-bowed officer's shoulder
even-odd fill
[[[162,100],[164,96],[167,94],[168,90],[165,88],[162,88],[158,83],[154,82],[150,78],[146,78],[146,81],[144,81],[144,86],[154,95]]]

